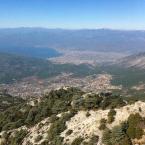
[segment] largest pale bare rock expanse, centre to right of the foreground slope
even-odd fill
[[[139,112],[139,108],[142,109],[142,112]],[[112,124],[107,124],[109,129],[126,121],[130,114],[140,113],[141,116],[145,117],[145,103],[138,101],[135,104],[115,109],[115,111],[116,116],[114,122]],[[89,117],[86,116],[86,111],[78,112],[78,114],[66,123],[67,129],[61,133],[61,136],[64,137],[64,142],[71,144],[71,142],[79,136],[87,141],[92,135],[97,135],[99,136],[98,145],[101,145],[103,131],[99,130],[100,120],[102,118],[107,119],[108,112],[109,110],[90,111]],[[73,130],[73,132],[71,135],[66,136],[68,130]]]

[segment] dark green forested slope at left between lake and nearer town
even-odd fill
[[[85,75],[93,69],[85,64],[54,64],[45,59],[0,53],[0,83],[11,83],[26,77],[49,78],[61,73]]]

